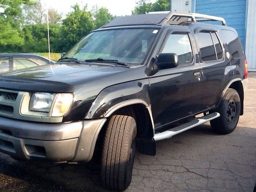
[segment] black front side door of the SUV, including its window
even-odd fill
[[[150,77],[150,97],[156,129],[201,111],[201,66],[195,62],[189,33],[167,33],[160,53],[176,53],[179,66]],[[193,45],[192,44],[192,45]]]

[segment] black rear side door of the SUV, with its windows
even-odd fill
[[[225,60],[224,49],[216,31],[200,31],[195,34],[200,50],[200,64],[202,67],[202,104],[204,109],[213,108],[220,99],[225,78],[233,75],[232,71],[225,71],[230,66]],[[227,76],[225,76],[225,73]]]

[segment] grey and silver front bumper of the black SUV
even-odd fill
[[[90,161],[105,121],[35,123],[0,117],[0,152],[18,159]]]

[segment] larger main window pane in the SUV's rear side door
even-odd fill
[[[216,60],[214,43],[209,32],[196,33],[203,61]]]

